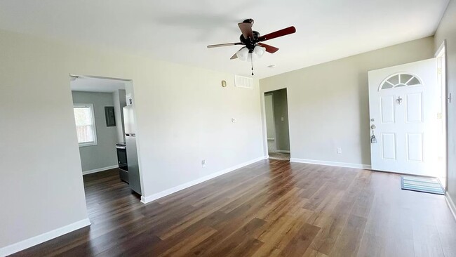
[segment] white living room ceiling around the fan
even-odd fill
[[[431,36],[448,1],[3,0],[0,29],[249,74],[250,63],[229,60],[239,46],[206,46],[239,41],[246,18],[260,34],[294,25],[295,34],[265,42],[280,50],[254,63],[262,78]]]

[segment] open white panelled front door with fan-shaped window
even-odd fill
[[[436,92],[434,58],[369,72],[373,170],[437,175]]]

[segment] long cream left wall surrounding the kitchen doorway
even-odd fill
[[[0,133],[8,135],[0,248],[87,218],[70,73],[133,79],[145,196],[264,155],[256,80],[253,90],[235,88],[233,74],[10,32],[0,38]]]

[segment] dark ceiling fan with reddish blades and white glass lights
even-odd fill
[[[269,39],[275,39],[276,37],[283,37],[288,34],[293,34],[296,32],[295,27],[287,27],[285,29],[277,30],[276,32],[272,32],[269,34],[265,34],[261,36],[259,32],[252,30],[253,26],[253,19],[244,20],[241,23],[238,23],[239,29],[241,29],[241,36],[239,37],[239,41],[237,43],[227,43],[227,44],[215,44],[210,45],[208,48],[215,48],[220,46],[243,46],[239,51],[234,53],[231,60],[239,58],[240,60],[250,60],[253,62],[255,58],[260,58],[264,51],[268,53],[276,53],[279,48],[274,46],[269,46],[267,44],[262,43],[263,41],[267,41]],[[253,71],[253,65],[252,65]],[[252,72],[253,75],[253,72]]]

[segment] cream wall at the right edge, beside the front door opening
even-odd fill
[[[437,51],[446,40],[447,86],[452,95],[448,104],[448,195],[456,201],[456,1],[450,1],[434,37],[434,50]]]

